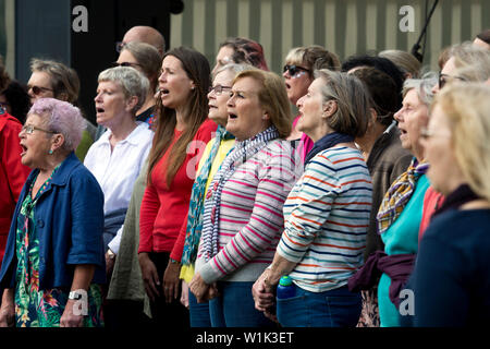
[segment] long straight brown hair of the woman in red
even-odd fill
[[[209,62],[200,52],[188,47],[177,47],[168,51],[167,56],[173,56],[181,61],[187,77],[194,82],[195,88],[191,91],[189,98],[184,111],[186,128],[173,145],[169,154],[167,166],[167,186],[170,184],[187,156],[187,145],[194,139],[197,130],[208,117],[207,93],[211,84]],[[148,157],[148,183],[151,183],[151,172],[168,151],[174,137],[176,125],[176,113],[172,108],[162,105],[161,98],[157,98],[157,129],[154,143]]]

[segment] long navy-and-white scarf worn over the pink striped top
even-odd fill
[[[218,254],[218,239],[220,225],[221,193],[226,181],[233,176],[236,168],[262,149],[270,141],[279,137],[275,127],[243,142],[236,142],[235,148],[230,153],[216,173],[206,194],[203,227],[203,254],[206,262]]]

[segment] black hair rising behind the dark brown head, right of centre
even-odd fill
[[[393,79],[397,92],[397,109],[402,107],[402,89],[405,77],[403,72],[392,61],[388,58],[376,56],[354,56],[347,58],[347,60],[342,63],[342,71],[348,72],[351,69],[357,67],[373,67]]]

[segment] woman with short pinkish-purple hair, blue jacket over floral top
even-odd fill
[[[84,129],[79,109],[54,98],[37,99],[27,115],[21,161],[33,171],[0,272],[0,326],[102,325],[103,194],[74,153]]]

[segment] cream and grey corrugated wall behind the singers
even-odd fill
[[[430,10],[434,0],[428,1]],[[279,72],[287,51],[321,45],[341,59],[396,48],[409,51],[425,23],[426,0],[184,0],[171,16],[171,46],[192,46],[211,64],[229,36],[259,41],[271,70]],[[400,8],[415,10],[415,31],[403,33]],[[428,28],[424,64],[437,69],[441,49],[473,39],[490,27],[490,1],[440,0]]]

